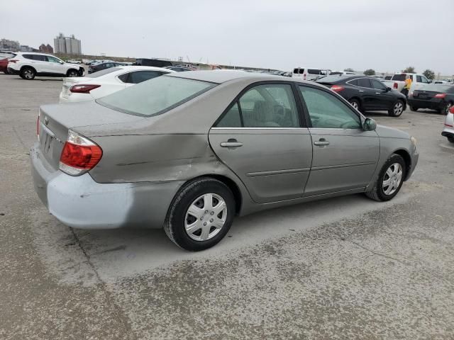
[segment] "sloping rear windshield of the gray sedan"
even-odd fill
[[[131,115],[160,115],[208,91],[216,84],[177,77],[156,77],[96,102]]]

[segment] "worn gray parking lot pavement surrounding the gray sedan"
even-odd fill
[[[419,165],[394,200],[250,215],[194,254],[162,230],[81,231],[49,215],[28,149],[38,106],[61,85],[0,74],[0,339],[454,339],[442,115],[369,115],[418,140]]]

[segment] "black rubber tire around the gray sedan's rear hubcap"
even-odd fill
[[[186,231],[185,223],[187,222],[187,219],[189,218],[195,219],[195,217],[192,215],[187,215],[187,212],[189,210],[189,207],[192,206],[195,200],[197,200],[201,196],[204,196],[207,193],[214,193],[216,196],[219,196],[226,203],[227,210],[225,222],[223,222],[223,226],[218,230],[217,234],[214,234],[214,237],[211,237],[204,241],[192,239],[192,237],[189,237],[189,234]],[[203,198],[201,198],[201,200],[203,200]],[[205,210],[205,205],[204,208],[201,209]],[[201,220],[203,218],[207,219],[211,218],[212,214],[206,211],[209,210],[205,210],[203,212],[204,215],[202,215]],[[222,212],[222,214],[223,213],[224,212]],[[228,230],[232,225],[234,215],[235,215],[235,198],[233,197],[232,191],[230,190],[230,188],[228,188],[228,186],[226,186],[226,184],[216,179],[210,178],[196,179],[192,182],[189,182],[186,186],[180,189],[180,191],[175,196],[174,200],[172,201],[172,204],[170,205],[169,211],[167,212],[167,217],[164,223],[164,230],[165,233],[167,234],[167,237],[169,237],[169,239],[172,242],[177,244],[177,246],[181,247],[182,249],[186,249],[189,251],[200,251],[208,249],[211,246],[214,246],[219,241],[221,241],[221,239],[223,239],[224,236],[226,236]],[[208,222],[208,220],[206,221]],[[211,222],[212,220],[209,221]],[[206,222],[204,223],[206,225]],[[209,227],[210,234],[211,228],[213,227]],[[200,230],[201,237],[202,229],[198,230]],[[194,229],[195,231],[194,234],[198,232],[198,230]],[[194,234],[192,234],[193,237]]]

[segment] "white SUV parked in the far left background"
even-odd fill
[[[31,80],[35,76],[78,77],[84,75],[84,68],[68,64],[63,60],[45,53],[18,52],[9,60],[8,71],[18,74],[22,79]]]

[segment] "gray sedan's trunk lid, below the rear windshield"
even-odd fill
[[[68,130],[79,132],[85,137],[90,137],[90,133],[84,133],[84,127],[92,131],[99,128],[118,133],[118,130],[127,130],[128,124],[143,119],[111,110],[94,101],[41,106],[38,121],[40,148],[49,164],[58,169]]]

